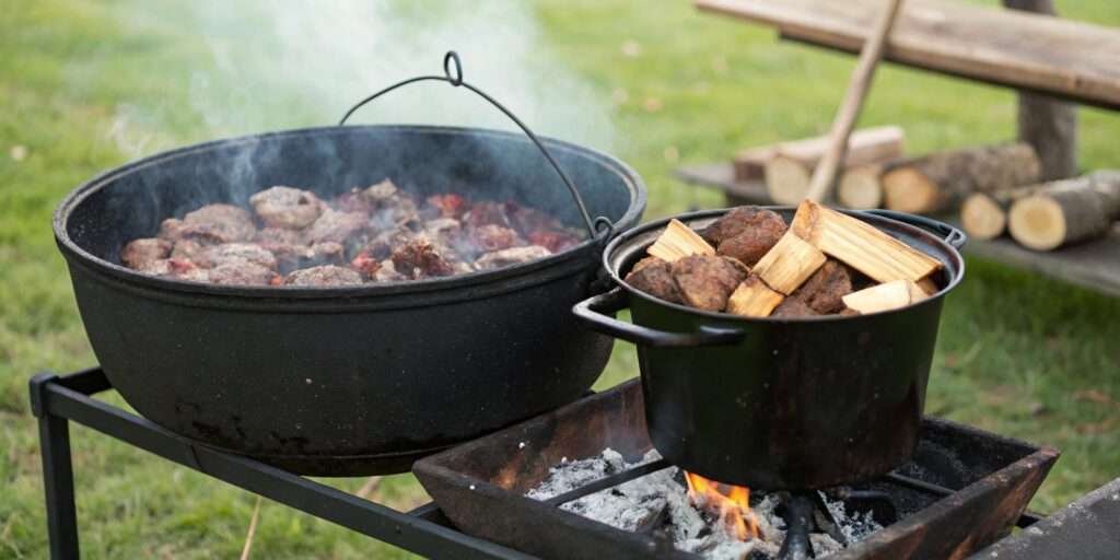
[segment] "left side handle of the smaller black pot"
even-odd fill
[[[615,288],[576,304],[571,312],[591,330],[645,346],[712,346],[735,344],[744,337],[741,330],[734,328],[700,327],[696,333],[666,333],[614,318],[616,312],[626,309],[628,305],[626,292],[622,288]]]

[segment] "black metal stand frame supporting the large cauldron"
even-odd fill
[[[165,459],[269,500],[430,558],[532,559],[460,533],[433,503],[401,513],[262,463],[196,445],[148,420],[92,399],[112,389],[101,368],[31,379],[31,410],[39,419],[50,558],[80,557],[69,422],[93,428]]]

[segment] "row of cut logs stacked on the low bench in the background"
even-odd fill
[[[811,138],[753,148],[734,161],[737,180],[765,179],[771,199],[795,204],[805,196],[827,147]],[[1049,251],[1108,234],[1120,220],[1120,171],[1043,183],[1043,166],[1026,143],[981,146],[903,157],[903,131],[856,131],[848,143],[834,203],[912,214],[960,211],[974,239],[1005,233],[1020,245]]]

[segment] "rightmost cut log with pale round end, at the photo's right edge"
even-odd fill
[[[1048,183],[1011,204],[1008,228],[1027,249],[1052,251],[1100,237],[1120,218],[1120,170]]]

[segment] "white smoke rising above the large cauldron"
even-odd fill
[[[119,8],[127,31],[169,34],[187,45],[153,68],[184,92],[166,104],[118,108],[108,133],[133,157],[167,147],[168,139],[144,131],[180,119],[180,103],[205,138],[328,125],[389,84],[442,74],[449,49],[463,58],[468,82],[535,132],[606,150],[615,142],[609,100],[550,53],[528,2],[128,0]],[[514,128],[482,99],[435,82],[393,92],[353,122]]]

